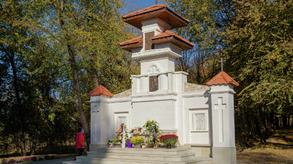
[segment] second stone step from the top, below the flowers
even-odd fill
[[[195,153],[186,154],[159,154],[160,151],[152,151],[153,154],[138,153],[105,153],[90,152],[87,153],[89,159],[83,159],[83,162],[92,162],[91,158],[109,158],[109,159],[133,159],[133,160],[153,160],[153,161],[188,161],[195,158]],[[154,154],[158,153],[158,154]],[[79,159],[77,159],[79,161]],[[80,161],[81,162],[81,161]]]

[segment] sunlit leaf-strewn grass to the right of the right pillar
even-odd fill
[[[237,162],[293,164],[293,129],[279,129],[267,140],[267,144],[257,144],[237,153]]]

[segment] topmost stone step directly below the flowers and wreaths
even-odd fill
[[[121,148],[121,147],[98,147],[98,152],[107,153],[137,153],[137,154],[186,154],[191,152],[189,147],[177,148]]]

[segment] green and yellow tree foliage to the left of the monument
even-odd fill
[[[74,141],[75,129],[81,126],[66,45],[72,47],[76,59],[87,120],[86,93],[93,89],[93,74],[115,94],[129,89],[130,75],[139,72],[138,62],[118,45],[136,35],[121,20],[121,0],[65,0],[66,31],[53,2],[60,5],[58,0],[0,2],[0,138],[7,141],[0,143],[3,148],[13,143],[19,146],[18,104],[9,63],[12,53],[25,109],[26,142],[33,141],[37,130],[38,143],[47,147]]]

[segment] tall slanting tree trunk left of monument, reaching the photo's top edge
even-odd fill
[[[65,24],[63,21],[63,10],[64,10],[64,1],[60,0],[60,6],[58,6],[56,0],[53,1],[53,4],[55,6],[57,15],[59,17],[59,21],[60,21],[60,26],[61,29],[64,33],[65,36],[65,40],[67,41],[67,43],[70,42],[70,37],[67,34],[67,29],[65,29]],[[78,70],[76,67],[76,63],[75,63],[75,57],[74,57],[74,53],[73,50],[71,48],[71,45],[67,44],[67,51],[69,54],[69,63],[70,63],[70,67],[71,67],[71,71],[73,74],[73,83],[75,86],[75,91],[76,91],[76,97],[77,97],[77,109],[78,109],[78,113],[79,113],[79,118],[81,120],[81,123],[83,125],[84,128],[84,135],[85,135],[85,140],[86,140],[86,145],[87,145],[87,150],[89,151],[89,144],[90,144],[90,130],[89,130],[89,126],[86,120],[86,115],[84,113],[84,108],[83,108],[83,101],[82,101],[82,93],[81,93],[81,88],[79,85],[79,79],[78,79]]]

